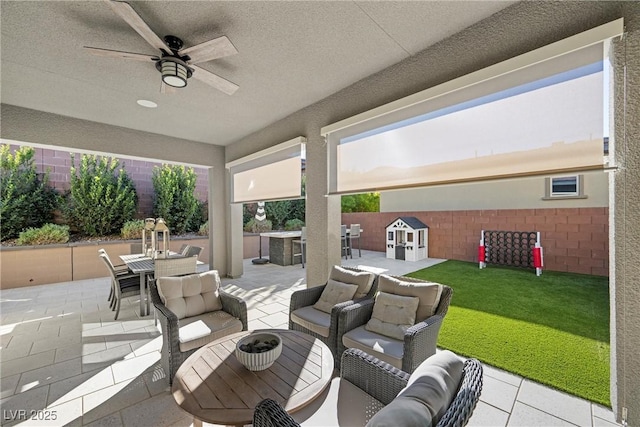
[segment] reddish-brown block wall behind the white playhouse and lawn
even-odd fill
[[[343,213],[342,223],[360,224],[362,249],[384,252],[385,228],[399,216],[429,226],[430,258],[477,262],[483,229],[539,231],[545,270],[609,275],[608,208]]]

